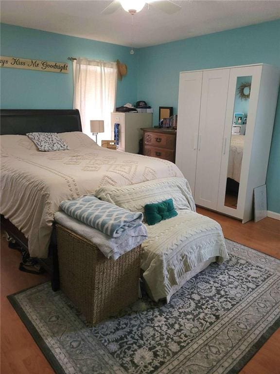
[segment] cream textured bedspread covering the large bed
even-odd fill
[[[82,132],[59,134],[70,150],[40,152],[25,135],[1,135],[0,213],[28,238],[30,255],[46,258],[61,201],[123,186],[181,177],[159,158],[101,148]]]

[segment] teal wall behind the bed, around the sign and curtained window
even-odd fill
[[[118,80],[117,106],[137,100],[137,55],[130,48],[110,43],[13,25],[0,25],[1,56],[35,58],[68,62],[69,74],[3,68],[1,108],[3,109],[70,109],[73,105],[73,73],[69,56],[105,61],[119,59],[127,65],[128,74]]]

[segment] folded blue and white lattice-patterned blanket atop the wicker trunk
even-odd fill
[[[94,195],[62,201],[60,207],[69,216],[112,238],[121,236],[124,230],[138,227],[143,220],[142,213],[130,212],[120,206],[99,200]]]

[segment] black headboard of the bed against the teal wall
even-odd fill
[[[77,109],[2,109],[0,135],[82,131]]]

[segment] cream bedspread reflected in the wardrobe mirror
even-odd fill
[[[227,177],[240,182],[245,135],[231,135]]]

